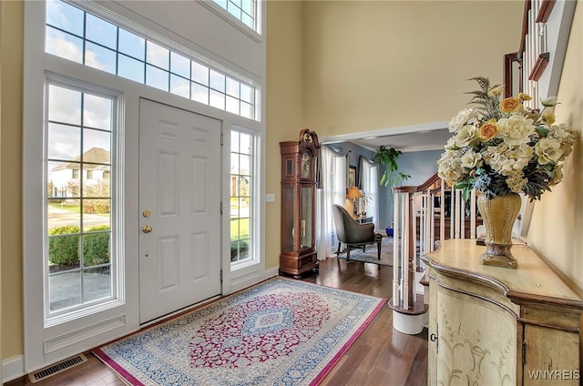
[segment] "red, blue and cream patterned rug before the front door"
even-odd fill
[[[132,385],[317,385],[384,301],[277,277],[93,352]]]

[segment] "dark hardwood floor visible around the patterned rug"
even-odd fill
[[[343,259],[321,261],[320,272],[303,278],[323,286],[351,290],[379,298],[391,298],[393,269]],[[87,362],[53,375],[36,386],[83,385],[118,386],[122,381],[96,357],[87,353]],[[10,381],[5,386],[30,385],[28,379]],[[392,310],[384,306],[371,324],[354,341],[343,358],[322,381],[322,386],[421,386],[427,384],[427,331],[405,335],[393,330]]]

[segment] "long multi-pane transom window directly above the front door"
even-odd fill
[[[45,44],[49,54],[255,119],[251,84],[63,1],[46,3]]]

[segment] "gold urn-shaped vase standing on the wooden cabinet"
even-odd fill
[[[517,259],[512,256],[512,227],[517,219],[522,198],[516,193],[506,196],[477,198],[486,225],[486,252],[480,257],[480,263],[496,267],[516,269]]]

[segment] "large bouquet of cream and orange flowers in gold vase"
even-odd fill
[[[563,178],[562,161],[572,150],[578,132],[554,125],[557,97],[541,100],[542,110],[524,107],[527,94],[500,100],[503,87],[490,86],[488,78],[476,76],[479,90],[466,108],[453,117],[449,131],[454,136],[437,161],[438,175],[450,187],[472,188],[486,198],[524,193],[531,200]]]

